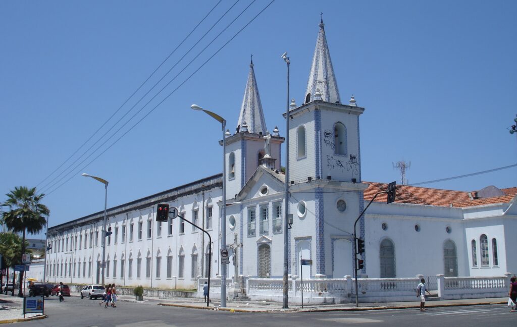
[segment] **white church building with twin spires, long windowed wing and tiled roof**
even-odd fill
[[[272,134],[266,129],[251,63],[236,133],[226,133],[226,217],[221,217],[222,174],[109,208],[105,283],[195,288],[200,277],[221,274],[221,233],[231,255],[229,277],[281,277],[285,232],[291,275],[300,275],[300,257],[313,260],[313,266],[303,266],[304,278],[354,275],[354,222],[387,185],[361,179],[364,108],[354,97],[341,102],[323,21],[303,99],[299,106],[293,100],[284,113],[290,119],[291,229],[284,228],[285,138],[278,128]],[[511,253],[517,246],[517,188],[461,192],[399,185],[394,203],[387,205],[383,196],[358,223],[357,234],[366,240],[359,276],[517,272]],[[180,219],[157,222],[159,203],[178,208],[210,233],[210,271],[208,238]],[[101,282],[102,222],[98,212],[49,228],[47,281]]]

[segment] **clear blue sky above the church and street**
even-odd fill
[[[136,119],[149,113],[269,1],[252,4]],[[48,194],[43,202],[51,210],[53,226],[103,210],[103,185],[81,177],[83,172],[110,182],[109,207],[218,174],[220,124],[190,110],[190,105],[217,112],[233,133],[251,54],[267,127],[272,131],[278,126],[284,136],[286,65],[280,55],[287,51],[291,57],[291,96],[301,104],[322,11],[342,101],[354,94],[358,105],[366,108],[360,118],[363,180],[400,181],[392,162],[402,159],[411,162],[409,183],[517,162],[517,139],[507,130],[517,114],[517,2],[276,0],[97,160],[85,167],[99,152],[73,164],[77,168],[66,170],[70,175],[54,186],[57,174],[42,182],[216,3],[0,2],[0,201],[14,186],[38,185]],[[233,3],[221,2],[99,136]],[[156,90],[250,3],[240,0]],[[492,184],[516,186],[517,168],[425,186],[472,191]]]

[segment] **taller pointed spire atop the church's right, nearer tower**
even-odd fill
[[[332,68],[330,53],[325,37],[325,29],[323,24],[323,12],[320,23],[320,33],[316,40],[316,49],[312,57],[311,72],[309,73],[309,81],[307,82],[307,91],[305,92],[305,103],[309,103],[314,99],[316,89],[320,90],[321,99],[326,102],[339,102],[338,83]]]

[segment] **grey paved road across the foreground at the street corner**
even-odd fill
[[[157,302],[119,302],[117,308],[104,309],[96,300],[57,298],[45,300],[49,318],[17,323],[17,327],[161,327],[161,326],[512,326],[517,325],[517,313],[510,313],[504,305],[479,305],[464,307],[430,308],[421,313],[418,309],[373,310],[333,313],[264,313],[245,314],[216,312],[158,306]]]

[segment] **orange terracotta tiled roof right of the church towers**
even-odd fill
[[[363,183],[369,184],[368,189],[364,190],[365,201],[370,201],[376,193],[386,191],[388,189],[387,183]],[[511,193],[511,190],[513,189],[515,189],[515,193],[508,194]],[[468,192],[464,191],[428,189],[419,188],[417,186],[397,185],[397,196],[395,202],[439,207],[450,207],[451,204],[453,207],[470,207],[496,203],[508,203],[511,199],[515,197],[515,194],[517,194],[517,188],[503,189],[503,191],[508,195],[473,200],[468,195]],[[375,198],[375,201],[386,202],[386,199],[386,194],[379,194]]]

